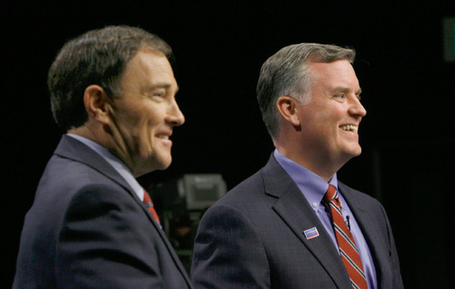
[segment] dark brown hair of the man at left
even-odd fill
[[[172,55],[171,47],[157,35],[126,25],[106,26],[68,41],[47,76],[56,124],[68,130],[86,123],[83,95],[89,85],[100,85],[109,97],[119,97],[126,65],[139,49]]]

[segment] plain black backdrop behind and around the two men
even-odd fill
[[[187,123],[173,135],[174,163],[142,184],[178,174],[222,174],[227,188],[266,164],[258,71],[279,48],[348,45],[368,115],[363,154],[339,179],[384,204],[407,288],[448,288],[453,228],[455,63],[443,59],[442,19],[454,1],[4,1],[1,5],[0,284],[10,287],[26,211],[61,132],[46,74],[66,40],[105,25],[160,35],[177,56],[177,95]],[[307,3],[308,2],[308,3]],[[399,3],[398,3],[399,2]]]

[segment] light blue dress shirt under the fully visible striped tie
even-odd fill
[[[275,150],[274,156],[277,159],[278,164],[283,167],[283,169],[289,174],[292,180],[297,184],[298,189],[300,192],[302,192],[309,205],[311,205],[315,213],[318,215],[320,222],[324,225],[324,228],[329,233],[333,244],[337,250],[339,250],[337,237],[333,231],[329,206],[325,202],[322,202],[324,195],[329,188],[329,184],[333,184],[339,191],[337,174],[334,174],[329,183],[327,183],[318,174],[314,174],[300,164],[289,160],[286,156],[280,154],[278,150]],[[357,248],[359,250],[360,259],[363,264],[365,275],[367,276],[367,283],[369,285],[369,288],[377,288],[378,283],[376,279],[376,269],[373,263],[373,258],[371,257],[371,253],[369,252],[369,245],[367,244],[367,241],[365,240],[365,237],[359,228],[359,224],[354,218],[354,214],[352,214],[350,211],[349,205],[346,203],[341,191],[339,191],[339,202],[341,203],[343,218],[346,220],[347,224],[349,219],[349,230],[354,237],[354,241],[356,242]]]

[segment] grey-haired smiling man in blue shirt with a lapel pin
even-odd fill
[[[384,208],[337,178],[361,152],[366,110],[354,57],[336,45],[299,44],[262,65],[258,103],[276,150],[204,214],[191,269],[197,288],[403,287]],[[329,187],[344,231],[334,230]],[[349,250],[361,262],[350,265],[363,285],[345,264],[339,232],[353,238]]]

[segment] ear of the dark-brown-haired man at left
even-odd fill
[[[106,125],[109,121],[110,99],[103,87],[89,85],[84,93],[84,105],[88,118]]]

